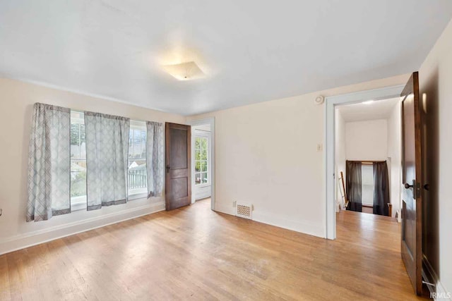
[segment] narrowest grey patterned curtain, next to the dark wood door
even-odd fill
[[[163,124],[146,123],[146,168],[148,173],[148,198],[160,197],[163,189]]]

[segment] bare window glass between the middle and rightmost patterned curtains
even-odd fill
[[[132,199],[148,195],[146,174],[146,123],[130,121],[129,133],[129,197]]]

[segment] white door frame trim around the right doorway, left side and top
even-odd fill
[[[323,137],[325,152],[325,188],[326,188],[326,233],[325,237],[328,239],[336,238],[336,204],[335,204],[335,106],[339,104],[355,104],[358,102],[365,102],[367,100],[381,100],[400,97],[400,93],[405,85],[398,85],[393,87],[384,87],[374,90],[366,90],[348,94],[341,94],[331,97],[326,97],[325,106],[323,110]]]

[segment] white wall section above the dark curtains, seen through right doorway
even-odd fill
[[[388,152],[386,119],[345,123],[345,157],[347,160],[384,161]]]

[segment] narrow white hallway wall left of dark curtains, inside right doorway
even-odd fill
[[[339,202],[340,207],[345,206],[345,199],[343,199],[341,194],[342,181],[340,180],[340,172],[343,172],[344,186],[347,183],[345,175],[345,120],[340,113],[340,110],[335,109],[335,185],[336,185],[336,202]],[[344,190],[345,192],[345,190]],[[343,193],[344,193],[343,192]]]

